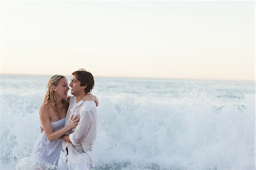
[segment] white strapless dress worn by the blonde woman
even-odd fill
[[[51,122],[53,131],[60,130],[65,125],[65,118]],[[46,134],[42,132],[36,140],[32,154],[19,160],[16,169],[57,169],[60,157],[62,139],[50,142]]]

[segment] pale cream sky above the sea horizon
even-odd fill
[[[1,74],[249,80],[254,1],[1,1]]]

